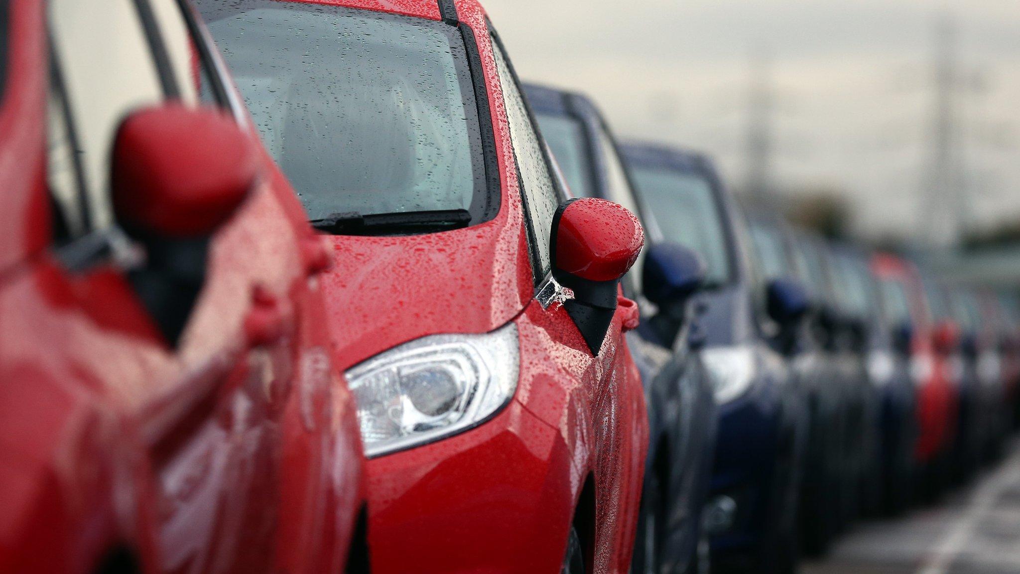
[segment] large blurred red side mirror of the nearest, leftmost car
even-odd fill
[[[129,229],[209,236],[248,196],[258,170],[257,148],[225,113],[175,103],[143,109],[113,144],[114,209]]]

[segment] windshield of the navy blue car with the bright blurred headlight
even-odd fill
[[[722,212],[711,184],[676,170],[633,165],[634,185],[667,241],[694,250],[705,264],[705,283],[730,280],[730,260]]]

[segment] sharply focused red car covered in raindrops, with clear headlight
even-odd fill
[[[198,6],[336,249],[373,572],[627,572],[648,430],[618,280],[643,232],[566,201],[482,8]]]

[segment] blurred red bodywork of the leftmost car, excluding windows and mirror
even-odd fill
[[[132,5],[97,2],[73,4],[128,12],[83,30],[122,40]],[[201,295],[173,345],[126,262],[81,256],[113,227],[94,223],[57,242],[47,176],[61,144],[51,136],[48,151],[46,104],[57,88],[47,30],[63,38],[47,18],[69,5],[0,5],[10,10],[9,34],[0,33],[9,42],[0,50],[9,55],[0,81],[0,572],[341,572],[363,506],[362,459],[319,320],[325,247],[253,147],[261,176],[211,238]],[[181,16],[176,6],[163,3],[161,15]],[[86,61],[116,85],[125,68],[115,60]],[[235,130],[255,146],[234,111]],[[163,152],[159,160],[181,161],[180,148]]]

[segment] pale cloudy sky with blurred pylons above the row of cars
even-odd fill
[[[1020,283],[1020,2],[486,7],[523,80],[590,94],[621,139],[708,152],[830,236]]]

